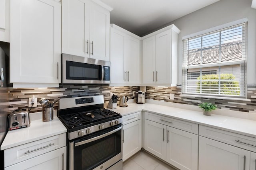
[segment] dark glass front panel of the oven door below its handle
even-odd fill
[[[101,134],[100,134],[101,135]],[[104,138],[74,146],[74,170],[90,170],[121,153],[121,130]]]

